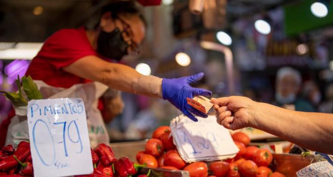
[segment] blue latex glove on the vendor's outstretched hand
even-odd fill
[[[162,80],[162,95],[164,100],[168,100],[176,108],[178,108],[184,115],[192,119],[193,121],[198,121],[191,112],[200,117],[207,117],[207,114],[200,112],[194,107],[187,104],[186,98],[193,98],[194,96],[201,95],[209,97],[212,92],[205,89],[194,88],[190,83],[195,83],[204,77],[204,73],[198,73],[192,76],[173,78]]]

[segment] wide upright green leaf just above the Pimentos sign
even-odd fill
[[[39,92],[37,85],[35,84],[35,82],[33,82],[30,76],[22,77],[22,85],[23,85],[23,90],[29,100],[43,99],[43,96]]]

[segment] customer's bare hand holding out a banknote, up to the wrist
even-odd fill
[[[236,130],[253,125],[256,102],[247,97],[212,98],[216,104],[216,121],[225,128]]]

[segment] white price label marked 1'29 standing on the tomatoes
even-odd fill
[[[171,132],[179,154],[186,162],[231,158],[239,151],[229,131],[216,122],[215,116],[194,122],[179,116],[171,122]]]

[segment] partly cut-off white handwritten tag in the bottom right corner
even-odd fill
[[[297,171],[298,177],[331,177],[333,176],[333,166],[327,161],[312,163]]]

